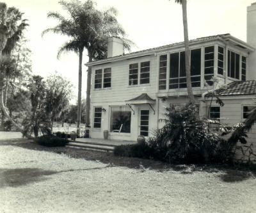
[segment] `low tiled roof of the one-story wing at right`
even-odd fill
[[[254,95],[256,94],[256,81],[234,81],[227,84],[224,89],[216,90],[220,95]],[[207,94],[209,96],[210,94]]]

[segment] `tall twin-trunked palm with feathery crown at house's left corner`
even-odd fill
[[[94,59],[106,58],[108,37],[118,36],[124,41],[124,48],[130,50],[132,42],[125,38],[125,31],[116,20],[116,10],[100,11],[95,8],[92,0],[84,3],[81,1],[60,1],[61,6],[68,12],[70,17],[66,19],[60,13],[49,12],[47,17],[58,20],[59,24],[54,28],[45,29],[42,35],[52,32],[67,35],[70,40],[64,43],[58,52],[74,51],[79,54],[78,72],[78,100],[77,100],[77,134],[79,134],[81,123],[81,88],[82,88],[82,63],[83,51],[86,49],[89,62]],[[86,91],[86,126],[90,125],[90,90],[91,90],[92,68],[87,71]]]

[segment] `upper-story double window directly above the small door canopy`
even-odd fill
[[[139,67],[140,65],[140,67]],[[139,75],[140,70],[140,75]],[[150,81],[150,61],[129,65],[129,85],[148,84]]]

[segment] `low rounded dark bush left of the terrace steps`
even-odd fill
[[[59,138],[57,136],[40,136],[35,139],[36,143],[42,146],[65,146],[68,143],[67,139]]]

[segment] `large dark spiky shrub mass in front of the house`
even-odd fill
[[[186,164],[231,161],[233,145],[209,130],[198,107],[170,106],[165,115],[164,127],[157,129],[147,143],[116,147],[114,154]]]

